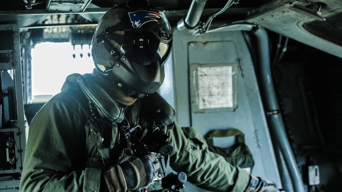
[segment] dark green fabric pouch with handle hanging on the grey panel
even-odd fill
[[[214,146],[213,137],[230,136],[235,136],[235,144],[232,147],[222,148]],[[231,165],[243,168],[249,173],[251,172],[254,166],[253,155],[245,144],[245,134],[239,129],[216,129],[207,133],[205,139],[209,146],[209,151],[220,154]]]

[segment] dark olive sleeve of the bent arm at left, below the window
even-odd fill
[[[101,169],[81,167],[86,154],[82,97],[63,96],[47,102],[30,124],[20,191],[100,189]]]

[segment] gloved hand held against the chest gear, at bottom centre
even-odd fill
[[[137,191],[148,187],[158,175],[159,162],[150,153],[141,158],[130,157],[127,161],[102,172],[109,191]]]

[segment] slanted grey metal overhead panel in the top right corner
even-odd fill
[[[298,0],[291,2],[287,0],[273,0],[265,3],[260,8],[249,12],[248,18],[245,20],[342,58],[342,46],[335,44],[338,41],[330,42],[329,40],[325,40],[330,38],[324,37],[324,34],[320,34],[319,37],[317,37],[315,33],[310,33],[310,31],[307,31],[303,27],[305,23],[315,21],[317,17],[325,17],[327,21],[320,21],[320,29],[328,30],[329,25],[327,24],[329,23],[336,25],[336,27],[332,26],[333,28],[339,28],[340,25],[334,23],[329,16],[342,12],[342,1],[321,0],[317,2],[323,3],[322,8],[320,9],[321,16],[294,11],[296,5],[304,8],[312,5],[313,3],[310,1]],[[338,32],[335,35],[336,37],[340,37]],[[331,38],[333,39],[334,37]]]

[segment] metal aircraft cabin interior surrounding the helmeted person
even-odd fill
[[[0,2],[0,191],[19,190],[32,119],[68,74],[92,72],[96,26],[122,2]],[[221,148],[243,136],[254,164],[241,168],[286,192],[342,191],[341,0],[149,3],[171,25],[158,92],[180,126]]]

